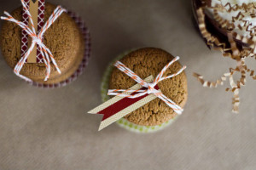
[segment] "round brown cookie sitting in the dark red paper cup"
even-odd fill
[[[50,3],[45,4],[44,21],[49,19],[56,6]],[[22,8],[16,8],[12,16],[16,20],[21,18]],[[26,63],[20,74],[32,79],[34,82],[51,84],[65,81],[79,68],[84,55],[84,40],[79,26],[67,14],[63,13],[55,20],[52,26],[44,34],[44,44],[54,56],[54,59],[61,70],[59,74],[55,66],[51,64],[49,80],[44,82],[44,63]],[[0,48],[3,57],[11,68],[20,60],[21,52],[21,28],[13,22],[5,21],[0,32]]]

